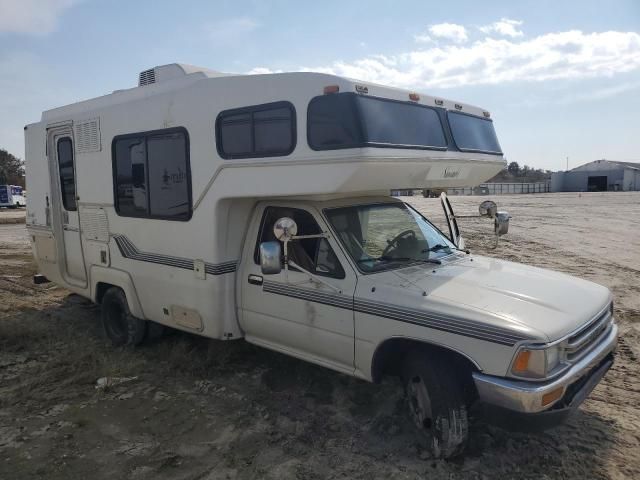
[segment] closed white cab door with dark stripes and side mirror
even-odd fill
[[[260,227],[247,239],[241,273],[240,322],[247,341],[304,358],[345,373],[354,370],[353,295],[356,275],[335,239],[289,242],[289,256],[321,277],[330,288],[289,267],[275,275],[260,268],[261,242],[274,241],[273,225],[290,217],[298,235],[326,231],[314,214],[301,208],[266,206],[258,212]],[[249,243],[251,242],[251,243]]]

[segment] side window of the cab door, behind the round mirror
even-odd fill
[[[258,241],[254,254],[256,264],[260,263],[259,246],[262,242],[278,241],[273,233],[273,225],[279,218],[292,218],[298,225],[298,235],[316,235],[322,230],[316,220],[306,210],[288,207],[267,207],[262,216]],[[282,250],[284,252],[284,244]],[[333,278],[345,278],[344,269],[326,238],[307,238],[289,242],[289,259],[305,270]],[[284,266],[284,258],[281,259]],[[291,270],[297,270],[290,266]]]

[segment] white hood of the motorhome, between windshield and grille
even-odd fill
[[[358,290],[366,292],[366,299],[468,319],[544,342],[576,330],[611,301],[609,289],[593,282],[475,255],[362,280]]]

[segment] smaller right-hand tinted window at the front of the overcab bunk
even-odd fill
[[[460,150],[502,153],[493,122],[488,118],[457,112],[449,112],[447,117],[453,140]]]

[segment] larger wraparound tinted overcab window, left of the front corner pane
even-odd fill
[[[435,108],[350,92],[311,100],[307,111],[307,139],[314,150],[447,149],[447,138]]]

